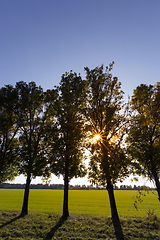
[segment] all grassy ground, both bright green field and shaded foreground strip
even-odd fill
[[[21,218],[24,190],[0,189],[0,239],[116,239],[105,190],[70,190],[70,217],[62,216],[63,190],[30,190],[29,215]],[[160,240],[160,207],[149,193],[134,208],[137,191],[116,190],[124,239]]]

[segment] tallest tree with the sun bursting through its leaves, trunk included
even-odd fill
[[[112,77],[112,67],[113,63],[106,71],[103,65],[93,70],[85,68],[88,94],[84,115],[90,134],[89,179],[94,184],[106,186],[116,237],[123,239],[113,185],[129,173],[122,141],[128,125],[128,109],[122,104],[121,83],[117,77]]]

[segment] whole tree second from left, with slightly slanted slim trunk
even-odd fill
[[[34,82],[21,81],[16,84],[18,92],[18,110],[20,131],[19,140],[19,173],[26,176],[21,216],[28,214],[29,188],[32,178],[48,177],[48,128],[54,124],[50,120],[50,104],[47,98],[51,92],[43,92]],[[49,94],[48,94],[49,93]],[[53,94],[54,95],[54,94]],[[54,102],[54,97],[52,96]]]

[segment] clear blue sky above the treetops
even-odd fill
[[[126,96],[160,81],[159,0],[0,1],[0,87],[51,89],[66,71],[112,61]]]

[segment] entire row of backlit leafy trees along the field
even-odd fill
[[[32,178],[47,180],[51,173],[63,175],[63,216],[69,216],[69,182],[86,174],[86,149],[88,177],[108,190],[118,239],[123,232],[113,191],[117,181],[131,172],[147,175],[160,198],[160,83],[141,84],[124,103],[113,64],[86,67],[85,80],[66,72],[46,92],[23,81],[0,89],[0,183],[26,176],[21,216],[28,213]]]

